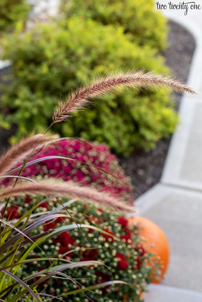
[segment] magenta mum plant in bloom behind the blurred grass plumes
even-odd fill
[[[131,180],[121,169],[117,157],[104,144],[77,139],[60,140],[45,147],[31,160],[45,156],[64,156],[75,161],[58,158],[46,159],[25,168],[22,176],[41,175],[61,178],[64,181],[73,180],[83,185],[92,185],[98,190],[107,191],[132,203]],[[86,164],[81,162],[86,162]],[[87,164],[106,170],[116,178]]]

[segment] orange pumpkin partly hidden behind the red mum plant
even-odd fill
[[[156,259],[156,257],[160,257],[160,260],[158,260],[158,264],[161,265],[161,274],[158,275],[159,280],[151,276],[153,283],[160,283],[165,272],[167,271],[170,258],[170,249],[164,232],[159,226],[147,218],[135,216],[129,218],[128,220],[129,224],[137,226],[139,236],[142,236],[146,239],[146,242],[143,244],[147,249],[147,252],[155,253],[155,257],[153,259],[151,258],[151,263],[149,263],[149,265],[152,265],[152,262],[154,259]]]

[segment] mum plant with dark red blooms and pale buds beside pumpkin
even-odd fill
[[[38,196],[38,202],[42,199],[42,196]],[[44,252],[49,259],[55,259],[52,261],[53,267],[65,263],[98,261],[100,265],[94,263],[87,268],[83,265],[82,267],[75,265],[71,269],[64,269],[63,273],[73,280],[77,280],[83,288],[92,287],[93,292],[85,291],[89,300],[91,298],[98,302],[110,302],[111,300],[121,302],[125,301],[125,297],[128,295],[131,301],[142,302],[141,293],[151,282],[151,269],[153,268],[155,276],[158,278],[160,268],[156,261],[152,263],[152,267],[148,265],[152,255],[148,254],[142,245],[137,228],[130,226],[128,220],[120,216],[120,213],[107,208],[97,209],[93,204],[82,204],[81,202],[74,202],[67,206],[67,198],[59,198],[59,200],[74,213],[74,219],[79,223],[81,229],[77,228],[64,210],[59,211],[63,218],[57,216],[40,225],[38,229],[34,229],[30,236],[43,234],[48,230],[52,230],[52,232],[49,232],[49,236],[41,236],[37,241],[41,249],[31,243],[24,246],[27,259],[32,259],[32,261],[18,266],[18,276],[24,279],[43,270],[51,271],[50,262]],[[11,209],[15,210],[14,205],[18,205],[15,215],[21,217],[33,208],[34,204],[35,199],[32,196],[12,198],[12,205],[8,206],[7,212],[11,213]],[[54,205],[59,204],[54,202]],[[46,200],[41,204],[38,203],[32,214],[35,214],[35,217],[37,214],[45,217],[45,214],[50,215],[52,210],[53,205]],[[84,227],[85,225],[87,227]],[[28,253],[29,246],[33,246],[33,248]],[[35,259],[39,260],[34,261]],[[39,277],[33,278],[31,281],[34,282],[38,279]],[[111,285],[112,280],[113,285]],[[121,284],[121,281],[127,284]],[[103,284],[104,282],[108,282],[108,284]],[[28,281],[29,283],[30,281]],[[56,274],[53,278],[42,282],[37,291],[61,295],[65,301],[76,302],[86,298],[79,290],[81,286]],[[46,301],[46,297],[42,300]]]

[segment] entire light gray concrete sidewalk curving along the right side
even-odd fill
[[[181,122],[173,135],[161,182],[136,201],[140,214],[165,232],[171,248],[167,276],[162,285],[150,286],[145,302],[199,302],[202,301],[202,8],[189,9],[186,16],[184,11],[169,8],[162,12],[186,27],[196,40],[188,85],[198,95],[184,94]]]

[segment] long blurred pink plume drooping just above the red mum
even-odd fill
[[[78,185],[74,182],[61,182],[45,180],[40,183],[22,183],[15,187],[6,187],[0,191],[0,199],[7,198],[11,195],[24,195],[24,194],[51,194],[60,195],[70,198],[78,198],[84,202],[92,202],[99,207],[111,207],[114,210],[122,212],[134,211],[134,208],[121,201],[119,198],[115,198],[113,195],[105,192],[98,191],[90,186]]]

